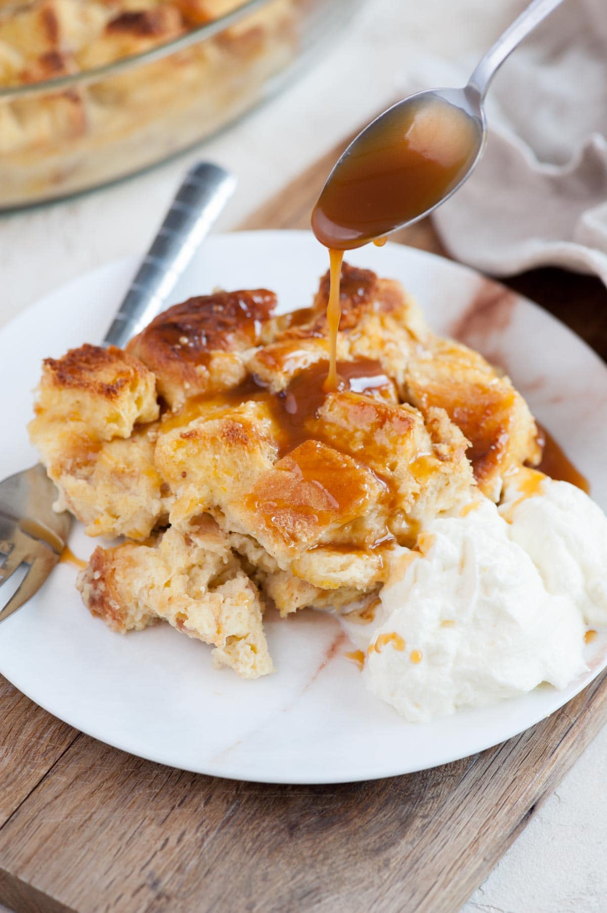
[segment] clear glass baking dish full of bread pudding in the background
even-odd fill
[[[106,184],[211,136],[279,89],[361,2],[34,0],[15,9],[0,0],[0,210]],[[195,24],[218,9],[228,12]],[[64,49],[70,41],[76,53]]]

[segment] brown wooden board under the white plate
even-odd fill
[[[307,227],[340,151],[242,227]],[[401,240],[444,253],[428,221]],[[509,284],[607,354],[598,280],[535,270]],[[603,676],[464,761],[376,782],[266,786],[110,749],[0,679],[0,903],[18,913],[458,913],[606,720]]]

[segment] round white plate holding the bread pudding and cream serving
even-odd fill
[[[545,311],[448,260],[397,245],[351,262],[400,279],[437,331],[458,331],[509,372],[540,421],[590,478],[607,507],[607,368]],[[40,360],[102,338],[135,258],[108,264],[46,296],[0,332],[0,477],[36,462],[26,421]],[[172,295],[265,286],[283,310],[307,305],[327,266],[305,232],[212,237]],[[574,303],[572,302],[572,307]],[[70,540],[87,557],[81,529]],[[169,625],[127,636],[93,619],[61,564],[26,608],[0,627],[0,672],[67,723],[117,748],[190,771],[262,782],[348,782],[419,771],[466,757],[527,729],[607,664],[607,635],[587,647],[592,671],[564,691],[460,711],[418,726],[372,697],[328,615],[266,623],[277,668],[241,681],[211,667],[211,648]]]

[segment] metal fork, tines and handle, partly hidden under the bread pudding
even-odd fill
[[[233,174],[217,165],[203,162],[190,169],[103,345],[125,345],[158,313],[235,187]],[[25,577],[0,609],[0,622],[40,589],[67,545],[71,516],[53,510],[56,498],[57,488],[40,464],[0,482],[0,559],[5,556],[0,588],[26,566]]]

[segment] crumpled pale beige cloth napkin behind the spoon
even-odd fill
[[[476,62],[418,58],[415,79],[462,85]],[[434,216],[448,251],[494,275],[560,266],[607,285],[607,0],[566,0],[500,69],[487,114],[483,159]]]

